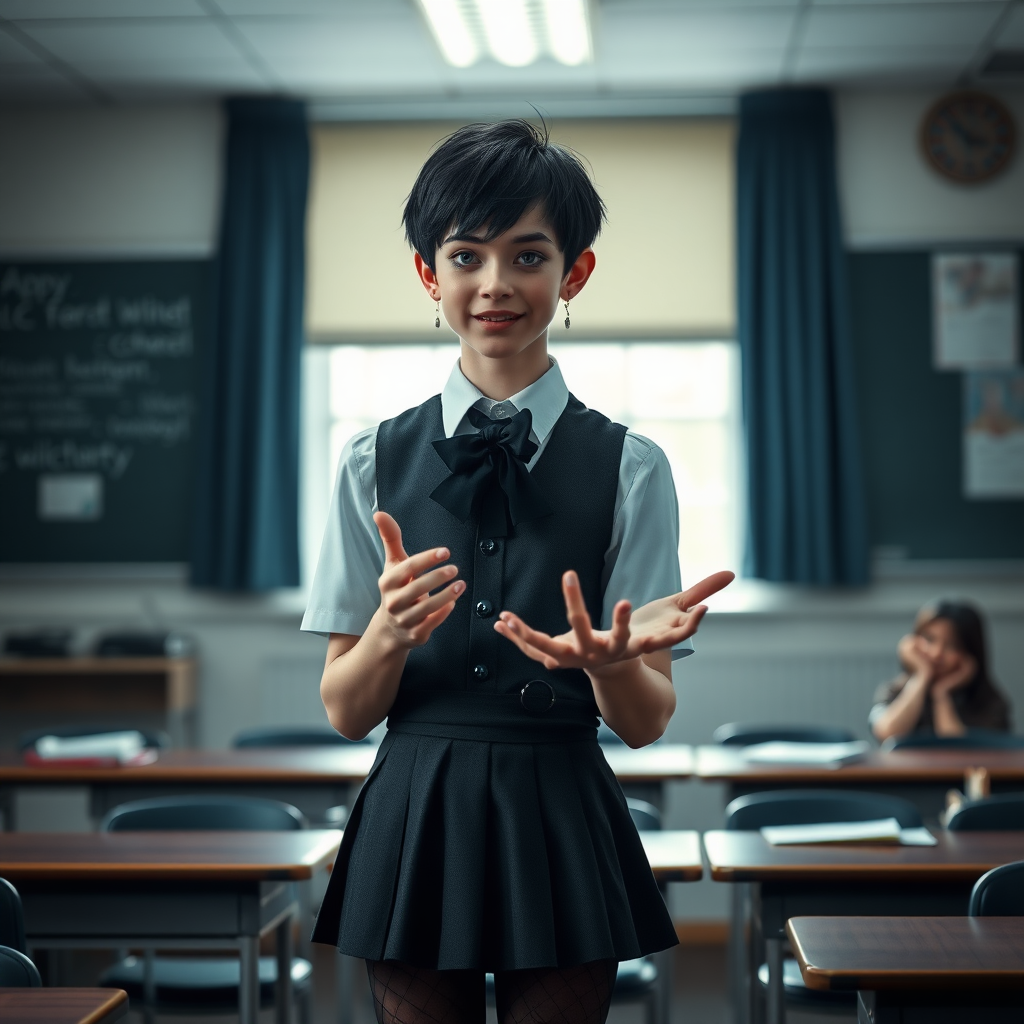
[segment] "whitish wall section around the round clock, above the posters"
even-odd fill
[[[849,92],[836,97],[840,195],[854,249],[1024,239],[1024,91],[987,89],[1017,122],[1018,153],[985,184],[947,181],[919,147],[932,92]]]

